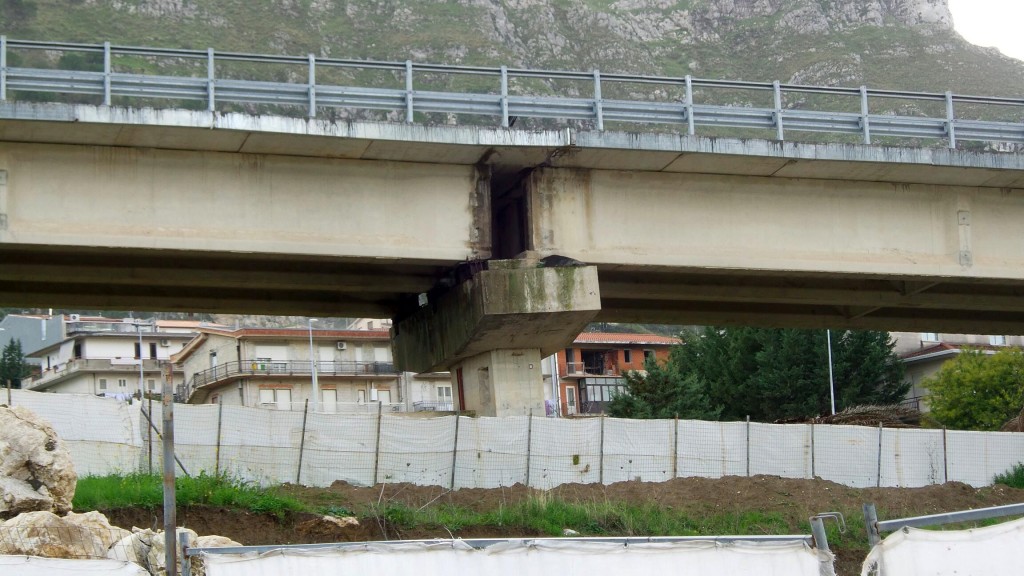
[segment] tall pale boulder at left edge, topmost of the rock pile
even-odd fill
[[[53,427],[20,406],[0,406],[0,518],[71,511],[78,475]]]

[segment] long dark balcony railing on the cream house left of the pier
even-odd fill
[[[316,362],[316,375],[330,376],[397,376],[394,364],[390,362]],[[308,360],[242,360],[225,362],[193,374],[184,398],[191,397],[196,388],[215,382],[243,376],[312,376],[312,363]]]

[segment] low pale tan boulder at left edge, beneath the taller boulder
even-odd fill
[[[48,511],[25,512],[0,524],[0,554],[105,558],[106,546],[87,528]]]

